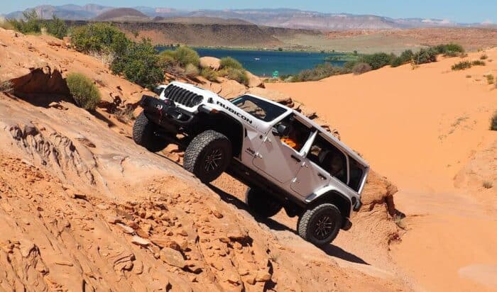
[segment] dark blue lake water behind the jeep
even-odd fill
[[[244,68],[257,76],[271,77],[274,71],[281,75],[297,74],[305,69],[312,69],[324,63],[324,58],[342,55],[340,53],[319,52],[278,52],[259,50],[229,50],[196,47],[200,57],[233,57],[241,62]],[[343,66],[344,61],[330,62],[334,66]]]

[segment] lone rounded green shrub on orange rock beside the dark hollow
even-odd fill
[[[80,73],[70,73],[66,82],[76,104],[88,111],[94,111],[101,97],[92,80]]]

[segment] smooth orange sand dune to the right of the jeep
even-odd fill
[[[460,72],[451,66],[461,58],[440,57],[417,69],[266,84],[317,109],[344,142],[399,186],[395,198],[408,215],[408,232],[391,254],[417,290],[497,290],[485,276],[497,265],[497,209],[479,200],[497,201],[495,169],[488,177],[492,189],[454,188],[454,176],[476,152],[497,157],[495,147],[487,149],[497,140],[488,130],[497,89],[484,77],[497,75],[497,49],[485,53],[486,66]]]

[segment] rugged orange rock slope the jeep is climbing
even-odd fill
[[[114,113],[136,106],[144,91],[99,60],[55,38],[1,29],[0,60],[0,80],[13,83],[0,93],[3,290],[406,289],[395,274],[341,263],[292,227],[259,223],[230,193],[207,188],[164,157],[170,153],[135,145],[131,123]],[[67,97],[67,72],[95,80],[104,97],[95,113]],[[225,84],[221,92],[234,94]],[[386,250],[398,237],[386,209],[393,210],[393,193],[371,176],[365,208],[354,218],[358,239],[375,238]]]

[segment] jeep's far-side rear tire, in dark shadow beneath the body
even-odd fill
[[[278,199],[256,188],[247,189],[245,203],[253,213],[263,218],[273,217],[283,208],[283,204]]]

